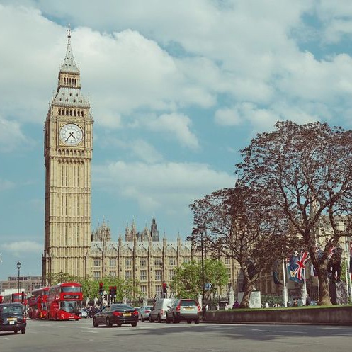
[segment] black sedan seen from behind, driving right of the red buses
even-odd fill
[[[93,317],[93,327],[98,327],[100,324],[106,327],[122,324],[131,324],[132,327],[137,327],[138,311],[130,305],[115,304],[106,305],[103,309],[96,313]]]

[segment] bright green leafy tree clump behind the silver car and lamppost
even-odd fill
[[[229,277],[225,265],[220,260],[204,259],[203,267],[204,282],[212,283],[212,290],[209,290],[208,297],[205,297],[207,299],[226,285]],[[171,292],[176,297],[198,300],[198,297],[203,294],[203,267],[201,261],[191,261],[177,266],[170,283]]]

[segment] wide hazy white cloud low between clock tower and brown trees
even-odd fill
[[[99,188],[136,200],[142,210],[184,213],[188,205],[219,188],[234,186],[235,178],[206,164],[143,164],[123,161],[93,169]]]

